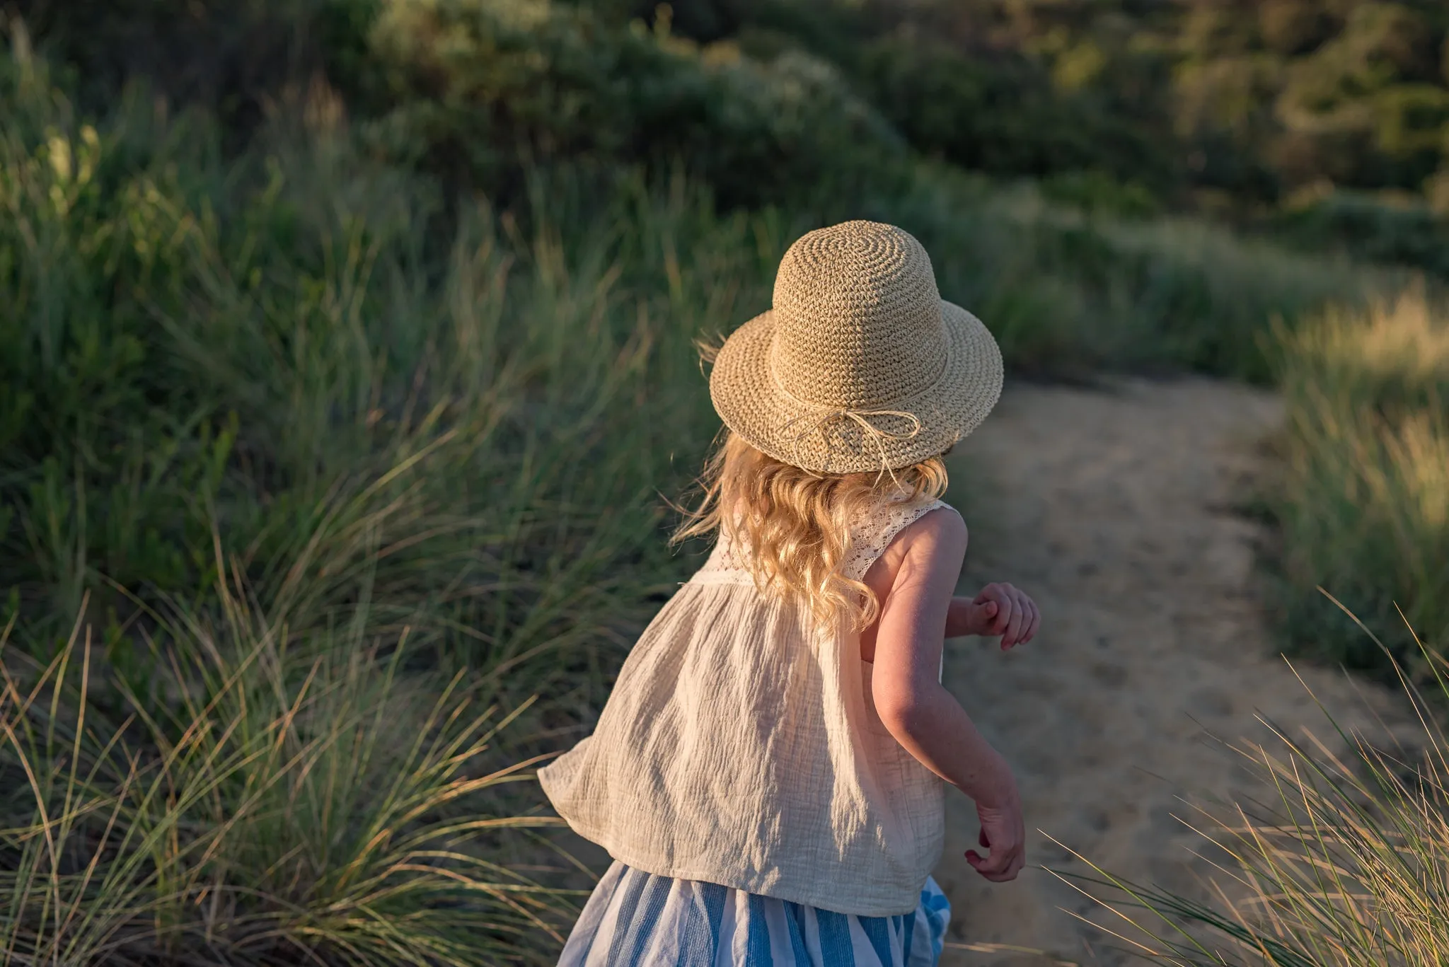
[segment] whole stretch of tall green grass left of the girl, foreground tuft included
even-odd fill
[[[778,226],[440,213],[325,126],[225,161],[4,68],[4,960],[551,963],[527,780],[682,567],[693,338]]]

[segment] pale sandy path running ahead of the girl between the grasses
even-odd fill
[[[952,457],[971,526],[962,590],[1009,580],[1043,613],[1037,639],[1007,655],[981,639],[951,642],[945,671],[1017,771],[1029,864],[1068,866],[1040,829],[1113,873],[1193,892],[1194,870],[1206,867],[1190,866],[1195,837],[1172,818],[1188,815],[1177,796],[1252,789],[1204,729],[1265,738],[1261,712],[1324,732],[1264,631],[1258,526],[1230,510],[1259,465],[1255,441],[1278,419],[1274,397],[1206,380],[1019,386]],[[1304,677],[1349,723],[1368,725],[1368,707],[1403,712],[1394,696],[1339,673]],[[1058,909],[1093,905],[1046,871],[981,880],[961,860],[975,832],[969,800],[949,793],[936,879],[955,909],[953,941],[1119,963],[1101,934]],[[942,958],[1042,963],[961,950]]]

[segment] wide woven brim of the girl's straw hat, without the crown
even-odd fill
[[[946,364],[936,381],[910,397],[871,406],[865,419],[881,435],[832,409],[798,400],[771,375],[774,313],[762,312],[736,329],[710,371],[710,399],[724,425],[756,449],[816,473],[898,470],[945,452],[981,425],[1001,397],[1001,351],[974,315],[942,300]],[[882,410],[910,413],[916,425]],[[913,432],[914,431],[914,432]]]

